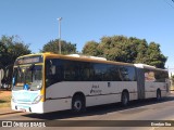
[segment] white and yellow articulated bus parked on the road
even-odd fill
[[[16,58],[13,68],[14,110],[49,113],[169,94],[167,70],[144,64],[102,57],[29,54]]]

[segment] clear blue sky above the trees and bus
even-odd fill
[[[0,0],[0,37],[17,35],[37,53],[59,38],[76,43],[122,35],[154,41],[174,68],[172,0]],[[174,70],[174,69],[173,69]]]

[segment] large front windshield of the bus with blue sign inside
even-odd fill
[[[30,66],[15,67],[13,75],[13,90],[40,90],[42,86],[42,66],[32,64]]]

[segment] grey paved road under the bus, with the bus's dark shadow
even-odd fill
[[[127,123],[137,125],[137,126],[147,123],[150,126],[151,122],[157,123],[156,120],[166,120],[164,122],[170,125],[169,120],[174,120],[174,94],[172,94],[171,96],[166,99],[163,99],[161,102],[156,102],[156,100],[132,102],[128,107],[122,107],[120,104],[90,107],[87,109],[85,114],[76,115],[76,116],[73,115],[70,110],[50,113],[50,114],[45,114],[45,115],[20,113],[20,114],[0,116],[0,120],[21,120],[21,121],[23,120],[32,120],[32,121],[44,120],[46,125],[58,126],[59,123],[59,125],[64,125],[67,127],[69,126],[79,126],[79,125],[82,126],[96,125],[98,127],[95,127],[95,128],[90,127],[90,129],[95,129],[95,130],[98,130],[98,129],[109,130],[113,128],[112,127],[107,128],[108,125],[109,126],[121,125],[122,127],[116,127],[116,130],[117,129],[119,130],[125,130],[125,129],[139,130],[140,129],[139,127],[132,128],[129,127],[130,125],[127,125]],[[94,121],[94,120],[97,120],[97,121]],[[119,121],[114,121],[114,120],[119,120]],[[128,122],[128,120],[136,120],[136,121]],[[105,126],[105,127],[101,127],[100,125]],[[127,127],[123,128],[124,125]],[[9,129],[18,130],[18,128],[9,128]],[[40,128],[36,128],[36,129],[40,130]],[[47,130],[48,128],[41,128],[41,130],[42,129]],[[66,130],[70,128],[63,127],[61,128],[61,130],[62,129]],[[76,129],[77,129],[76,127],[71,128],[71,130],[76,130]],[[83,128],[83,130],[86,130],[86,129],[89,129],[89,127]],[[174,130],[174,127],[164,128],[164,127],[159,127],[159,126],[152,126],[152,127],[141,127],[141,129],[142,130],[161,130],[161,129],[162,130],[163,129]]]

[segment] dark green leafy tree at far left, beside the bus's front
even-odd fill
[[[18,36],[2,36],[0,39],[0,58],[3,66],[14,64],[14,61],[25,54],[29,54],[32,51],[28,49],[29,44],[25,44],[18,40]]]

